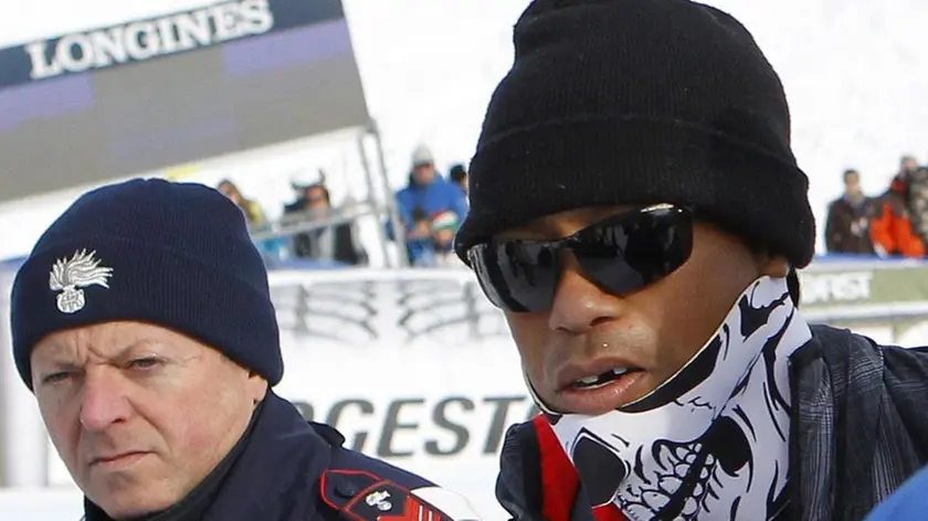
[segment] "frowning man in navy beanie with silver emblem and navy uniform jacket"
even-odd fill
[[[17,368],[86,521],[476,519],[274,394],[267,273],[215,190],[85,193],[39,238],[11,308]]]

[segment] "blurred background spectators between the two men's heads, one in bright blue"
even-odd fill
[[[265,258],[367,265],[368,255],[359,241],[356,216],[346,205],[333,204],[325,173],[318,172],[309,179],[297,176],[291,180],[291,187],[295,200],[284,206],[283,216],[276,223],[232,181],[223,180],[217,188],[242,209]],[[453,164],[445,177],[437,170],[431,150],[420,145],[412,153],[408,183],[396,193],[396,204],[399,225],[389,221],[383,225],[390,241],[405,244],[401,252],[405,252],[410,266],[463,266],[452,247],[457,226],[467,213],[464,164]]]

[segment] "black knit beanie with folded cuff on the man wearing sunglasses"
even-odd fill
[[[812,258],[779,77],[730,15],[686,0],[536,0],[487,108],[455,249],[565,210],[688,204]]]

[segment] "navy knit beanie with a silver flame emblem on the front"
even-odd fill
[[[115,320],[184,333],[272,385],[283,376],[267,272],[244,215],[202,184],[135,179],[85,193],[39,238],[11,300],[13,357],[30,389],[43,337]]]

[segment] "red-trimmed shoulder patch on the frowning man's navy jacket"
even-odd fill
[[[323,501],[350,521],[479,521],[463,497],[439,487],[409,490],[361,470],[327,470]]]

